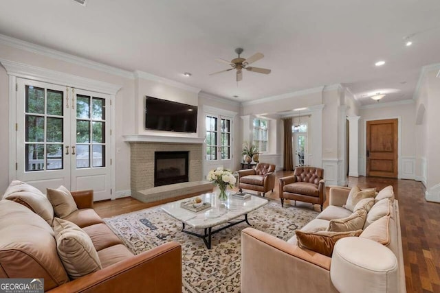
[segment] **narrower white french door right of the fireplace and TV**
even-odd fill
[[[221,115],[205,115],[204,176],[217,167],[232,169],[234,120]]]

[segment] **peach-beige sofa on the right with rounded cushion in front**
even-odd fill
[[[328,230],[331,220],[352,215],[343,207],[349,193],[348,187],[331,188],[329,207],[300,230]],[[339,239],[330,256],[298,245],[296,235],[285,242],[245,228],[241,292],[406,292],[399,206],[392,187],[371,204],[360,236]]]

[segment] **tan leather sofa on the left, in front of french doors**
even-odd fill
[[[74,211],[59,219],[45,194],[11,183],[0,200],[0,278],[43,278],[50,292],[181,292],[179,244],[133,255],[94,211],[93,191],[72,191],[72,196]],[[72,231],[58,233],[63,226],[78,226],[73,233],[87,235],[93,248],[75,266],[84,269],[95,256],[98,268],[83,275],[72,272],[69,261],[78,257],[83,243],[73,246],[78,242],[66,234]]]

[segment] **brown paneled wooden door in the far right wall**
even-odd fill
[[[366,176],[397,178],[397,123],[366,121]]]

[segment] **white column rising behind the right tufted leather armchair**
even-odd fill
[[[309,154],[309,165],[314,167],[322,167],[322,109],[324,106],[322,104],[309,107],[311,111],[311,145],[309,144],[311,156]]]

